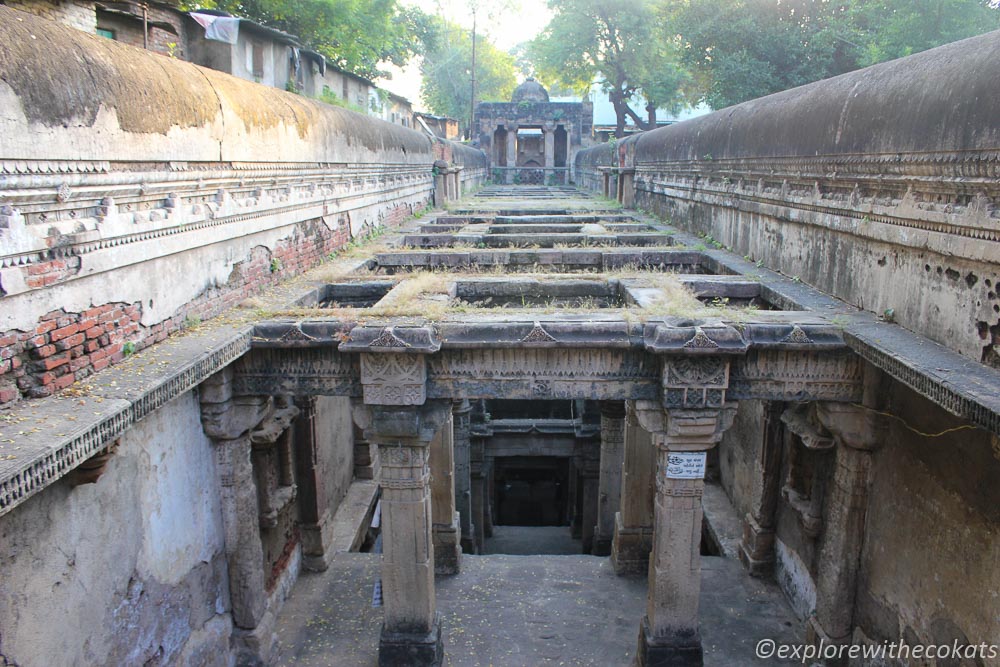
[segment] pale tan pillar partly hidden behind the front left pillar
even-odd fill
[[[455,511],[454,436],[448,413],[431,441],[431,514],[434,533],[434,572],[458,574],[461,535]]]

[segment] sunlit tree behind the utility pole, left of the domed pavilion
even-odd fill
[[[472,104],[472,36],[468,30],[437,19],[435,48],[420,65],[420,95],[434,113],[457,118],[468,130]],[[514,57],[476,36],[476,100],[507,101],[517,83]]]

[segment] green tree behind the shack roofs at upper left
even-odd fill
[[[433,17],[397,0],[203,0],[201,6],[295,35],[369,79],[387,74],[380,63],[402,67],[435,39]]]

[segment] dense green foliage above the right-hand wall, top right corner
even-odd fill
[[[697,96],[715,109],[1000,28],[987,0],[664,0]]]

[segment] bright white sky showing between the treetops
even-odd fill
[[[450,21],[472,29],[472,0],[402,0],[401,4],[419,7],[429,14],[440,14]],[[526,42],[549,22],[551,12],[543,0],[475,0],[476,32],[487,36],[500,49],[507,51]],[[406,68],[392,70],[391,80],[381,79],[378,85],[413,103],[416,110],[424,109],[420,100],[420,61],[414,58]]]

